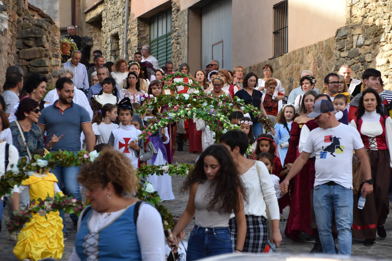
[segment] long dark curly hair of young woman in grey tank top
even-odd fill
[[[195,182],[204,183],[207,180],[207,175],[204,172],[204,158],[206,156],[216,158],[220,164],[218,173],[205,195],[205,198],[210,201],[207,210],[211,211],[216,204],[219,204],[219,212],[239,211],[242,201],[240,195],[246,200],[245,187],[229,151],[223,145],[211,145],[201,153],[193,170],[187,176],[181,192],[188,191]]]

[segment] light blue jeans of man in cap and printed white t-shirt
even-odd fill
[[[339,254],[351,255],[352,189],[341,185],[317,185],[314,187],[313,207],[323,252],[335,254],[335,242],[331,231],[334,209],[336,228],[339,232]]]

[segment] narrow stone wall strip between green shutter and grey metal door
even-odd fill
[[[172,1],[172,63],[178,70],[188,56],[188,9],[180,11],[180,1]]]

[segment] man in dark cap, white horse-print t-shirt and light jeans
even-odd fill
[[[292,165],[282,184],[288,187],[292,179],[305,165],[310,154],[316,155],[316,179],[314,180],[313,206],[323,252],[335,254],[331,231],[332,210],[335,211],[338,229],[339,254],[350,255],[352,244],[352,156],[355,150],[365,174],[361,192],[366,196],[373,191],[370,162],[358,131],[336,120],[334,106],[326,100],[314,104],[313,112],[319,128],[310,131],[302,153]]]

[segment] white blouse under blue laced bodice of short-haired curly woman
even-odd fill
[[[89,228],[91,232],[97,232],[103,227],[109,225],[113,220],[118,218],[125,209],[115,212],[99,213],[92,211],[89,219]],[[80,227],[81,217],[78,219],[78,227]],[[162,218],[159,212],[149,204],[142,204],[139,208],[139,215],[136,219],[136,234],[140,245],[143,261],[165,261],[165,234],[163,232]],[[87,245],[96,245],[96,239],[91,237]],[[93,251],[94,252],[94,251]],[[95,256],[89,257],[89,260],[95,260]],[[80,261],[76,254],[75,247],[72,251],[69,261]]]

